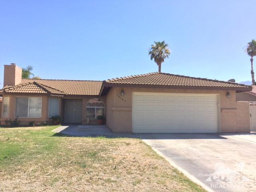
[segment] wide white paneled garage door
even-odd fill
[[[134,133],[217,133],[217,94],[134,92]]]

